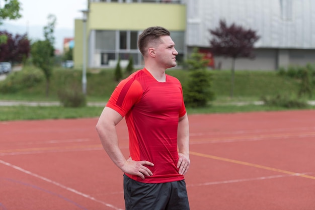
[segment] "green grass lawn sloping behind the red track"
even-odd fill
[[[257,106],[253,104],[245,106],[231,105],[231,102],[257,101],[262,96],[296,95],[299,81],[289,77],[281,77],[276,71],[236,71],[233,97],[230,97],[229,70],[209,70],[212,73],[212,90],[215,100],[206,108],[187,108],[188,114],[196,113],[234,113],[234,112],[257,112],[286,110],[279,107]],[[50,82],[49,95],[46,96],[46,81],[43,73],[33,66],[23,68],[22,72],[33,72],[39,76],[40,81],[21,75],[9,75],[0,81],[1,86],[5,83],[8,87],[15,82],[19,85],[15,91],[0,92],[0,100],[28,100],[28,101],[58,101],[58,91],[66,88],[81,88],[82,71],[80,69],[56,68]],[[21,74],[20,72],[19,74]],[[35,72],[35,73],[34,73]],[[167,73],[177,77],[183,85],[189,76],[189,72],[181,69],[170,69]],[[125,75],[126,77],[127,75]],[[87,73],[87,101],[107,101],[118,82],[114,81],[113,69],[89,69]],[[29,84],[30,83],[30,84]],[[25,84],[25,85],[23,85]],[[309,98],[314,99],[314,98]],[[306,109],[314,109],[307,107]],[[102,107],[64,108],[64,107],[26,107],[12,106],[0,107],[0,121],[11,120],[37,120],[37,119],[62,119],[62,118],[89,118],[98,117]]]

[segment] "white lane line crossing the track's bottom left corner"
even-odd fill
[[[14,168],[14,169],[16,169],[16,170],[19,170],[19,171],[21,171],[21,172],[23,172],[23,173],[26,173],[26,174],[29,174],[29,175],[31,175],[31,176],[34,176],[34,177],[36,177],[36,178],[39,178],[39,179],[41,179],[41,180],[47,181],[47,182],[49,182],[49,183],[51,183],[51,184],[54,184],[54,185],[56,185],[56,186],[59,186],[59,187],[61,187],[61,188],[63,188],[63,189],[66,189],[66,190],[68,190],[68,191],[71,191],[71,192],[73,192],[73,193],[75,193],[75,194],[78,194],[78,195],[81,195],[81,196],[83,196],[83,197],[89,198],[89,199],[91,199],[91,200],[93,200],[93,201],[102,203],[103,205],[106,205],[107,207],[110,207],[110,208],[113,208],[113,209],[116,209],[116,210],[123,210],[123,209],[118,208],[118,207],[116,207],[116,206],[114,206],[114,205],[112,205],[112,204],[109,204],[109,203],[106,203],[106,202],[104,202],[104,201],[98,200],[98,199],[92,197],[91,195],[85,194],[85,193],[83,193],[83,192],[77,191],[77,190],[75,190],[75,189],[72,189],[72,188],[70,188],[70,187],[67,187],[67,186],[65,186],[65,185],[63,185],[63,184],[60,184],[60,183],[58,183],[58,182],[55,182],[55,181],[53,181],[53,180],[50,180],[50,179],[48,179],[48,178],[46,178],[46,177],[43,177],[43,176],[40,176],[40,175],[38,175],[38,174],[32,173],[31,171],[25,170],[25,169],[23,169],[23,168],[21,168],[21,167],[19,167],[19,166],[12,165],[11,163],[5,162],[5,161],[3,161],[3,160],[0,160],[0,163],[4,164],[4,165],[6,165],[6,166],[9,166],[9,167],[11,167],[11,168]]]

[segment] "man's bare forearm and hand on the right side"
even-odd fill
[[[189,122],[187,113],[179,118],[177,145],[179,149],[177,168],[180,174],[185,175],[190,166],[189,159]]]

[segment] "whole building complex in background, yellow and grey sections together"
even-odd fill
[[[210,50],[219,20],[257,31],[256,58],[237,59],[235,69],[274,70],[315,60],[315,1],[313,0],[90,0],[87,19],[87,65],[114,67],[118,57],[143,64],[136,40],[141,30],[163,26],[181,61],[194,47]],[[75,20],[75,67],[82,67],[83,21]],[[231,68],[231,59],[214,56],[215,68]]]

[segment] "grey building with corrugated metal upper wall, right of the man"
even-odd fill
[[[315,62],[315,1],[313,0],[189,0],[187,3],[188,52],[209,49],[209,29],[219,20],[252,29],[260,36],[256,58],[237,59],[235,69],[274,70]],[[231,59],[214,57],[215,66],[231,68]]]

